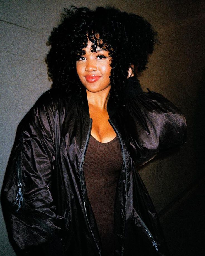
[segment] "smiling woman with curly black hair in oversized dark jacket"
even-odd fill
[[[156,32],[114,8],[66,10],[44,93],[18,126],[1,200],[20,255],[168,255],[137,165],[185,142],[169,100],[141,90]]]

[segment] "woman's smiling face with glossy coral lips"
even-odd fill
[[[110,87],[111,57],[108,51],[97,47],[97,52],[91,52],[92,42],[88,40],[85,55],[76,62],[77,74],[82,84],[90,92],[103,91]]]

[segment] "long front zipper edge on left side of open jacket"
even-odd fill
[[[95,241],[95,243],[96,243],[97,250],[98,250],[98,252],[99,252],[99,256],[101,256],[99,246],[98,246],[98,244],[97,244],[97,241],[96,241],[96,239],[95,239],[94,233],[92,232],[91,226],[90,226],[90,224],[89,224],[89,220],[88,220],[88,217],[87,217],[87,210],[86,210],[85,198],[84,198],[84,194],[83,194],[83,191],[82,191],[82,169],[83,169],[84,160],[85,160],[85,155],[86,155],[86,151],[87,151],[87,147],[88,147],[88,143],[89,143],[89,139],[90,139],[90,135],[91,135],[91,127],[92,127],[92,118],[90,119],[90,125],[89,125],[89,130],[88,130],[88,134],[87,134],[87,138],[86,138],[86,143],[85,143],[85,147],[84,147],[84,150],[83,150],[83,153],[82,153],[82,159],[81,159],[81,162],[80,162],[80,188],[81,188],[81,193],[82,193],[82,198],[83,198],[83,205],[84,205],[84,210],[85,210],[85,213],[86,213],[87,223],[88,223],[88,225],[89,225],[90,231],[91,231],[92,236],[93,236],[93,238],[94,238],[94,241]]]

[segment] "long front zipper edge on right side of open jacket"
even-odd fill
[[[124,148],[123,148],[123,143],[122,143],[122,139],[119,135],[118,130],[116,129],[116,127],[114,126],[114,124],[112,123],[112,121],[109,119],[108,120],[109,123],[111,124],[111,126],[113,127],[114,131],[116,132],[119,142],[120,142],[120,146],[121,146],[121,153],[122,153],[122,158],[123,158],[123,165],[125,168],[125,176],[126,176],[126,197],[125,197],[125,218],[124,218],[124,224],[123,224],[123,242],[122,242],[122,249],[121,249],[121,256],[123,256],[123,247],[124,247],[124,236],[125,236],[125,221],[126,221],[126,208],[127,208],[127,195],[128,195],[128,191],[127,191],[127,166],[126,166],[126,161],[125,161],[125,152],[124,152]]]

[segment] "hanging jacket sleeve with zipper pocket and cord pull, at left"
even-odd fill
[[[29,255],[63,255],[60,238],[65,220],[57,214],[51,192],[54,108],[47,91],[26,114],[17,128],[5,173],[2,209],[9,239],[20,255],[28,251]]]

